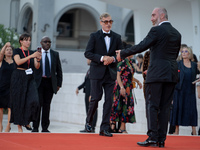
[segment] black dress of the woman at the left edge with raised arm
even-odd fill
[[[14,63],[7,63],[4,59],[0,67],[0,108],[10,108],[10,78],[14,70]]]

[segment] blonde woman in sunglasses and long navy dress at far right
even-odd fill
[[[184,47],[178,62],[179,82],[173,96],[171,124],[176,126],[174,134],[179,134],[179,126],[192,126],[192,135],[196,135],[197,104],[196,89],[192,82],[199,73],[197,63],[193,62],[192,50]]]

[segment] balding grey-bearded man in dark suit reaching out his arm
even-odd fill
[[[176,58],[181,46],[181,34],[168,21],[165,8],[155,8],[151,15],[153,26],[138,45],[118,50],[117,59],[141,53],[150,48],[150,64],[145,81],[146,115],[149,136],[140,146],[164,147],[170,104],[178,81]]]

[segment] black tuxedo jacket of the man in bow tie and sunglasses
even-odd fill
[[[89,42],[86,47],[85,57],[91,60],[90,64],[90,79],[102,79],[106,69],[109,69],[113,80],[117,77],[117,60],[110,65],[105,66],[100,61],[101,56],[114,56],[115,50],[122,48],[121,36],[113,31],[110,31],[110,49],[107,53],[106,44],[103,36],[103,31],[99,30],[90,35]]]

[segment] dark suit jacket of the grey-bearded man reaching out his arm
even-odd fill
[[[178,81],[176,58],[181,45],[181,34],[169,22],[152,27],[138,45],[121,51],[121,58],[141,53],[150,48],[150,64],[145,83]]]

